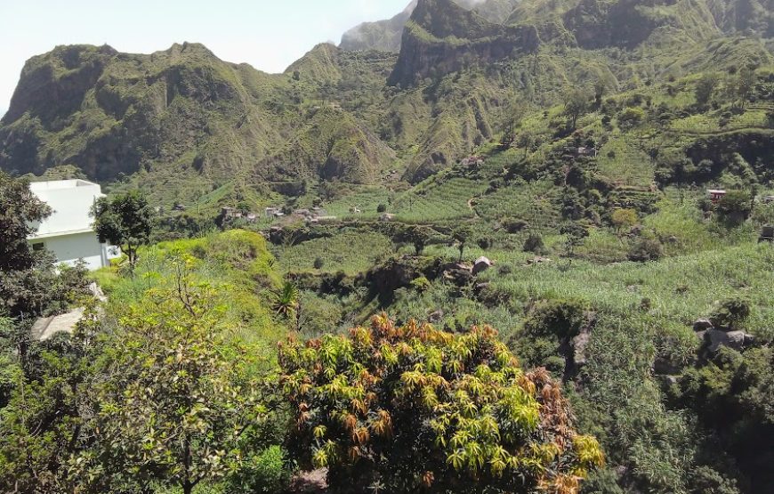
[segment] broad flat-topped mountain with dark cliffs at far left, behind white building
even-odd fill
[[[77,164],[109,181],[161,162],[228,176],[281,137],[256,85],[272,91],[265,75],[201,45],[151,55],[60,47],[23,70],[0,127],[0,167],[40,174]]]

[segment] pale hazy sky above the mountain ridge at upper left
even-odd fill
[[[108,44],[152,53],[183,41],[225,61],[281,72],[313,45],[409,0],[0,0],[0,115],[24,62],[56,45]]]

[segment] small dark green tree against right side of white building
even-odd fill
[[[146,245],[153,230],[153,212],[140,191],[99,198],[92,208],[94,230],[101,242],[121,246],[129,257],[129,269],[137,264],[137,249]]]

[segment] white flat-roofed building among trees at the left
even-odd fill
[[[108,266],[110,259],[121,255],[120,249],[101,244],[89,215],[101,187],[85,180],[33,182],[29,189],[52,208],[52,215],[36,225],[35,235],[28,238],[33,249],[48,249],[59,263],[74,264],[83,259],[90,270]]]

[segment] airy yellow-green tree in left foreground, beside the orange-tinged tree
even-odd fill
[[[270,378],[215,304],[215,288],[173,260],[158,287],[120,318],[93,383],[94,447],[71,464],[82,492],[147,492],[165,482],[190,494],[254,458],[246,438],[269,418]],[[276,407],[272,405],[272,409]]]

